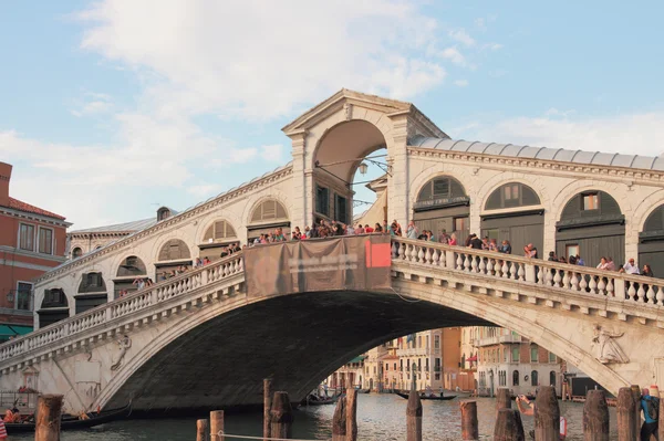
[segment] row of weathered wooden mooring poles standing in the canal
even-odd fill
[[[618,393],[618,440],[634,441],[641,430],[641,389],[639,386],[621,388]],[[477,401],[460,402],[461,439],[478,440]],[[37,409],[35,441],[60,441],[62,396],[44,395]],[[660,407],[660,420],[664,406]],[[263,440],[291,439],[293,411],[287,392],[272,392],[270,379],[263,380]],[[197,441],[226,441],[224,411],[210,412],[209,420],[198,420]],[[664,424],[660,424],[660,438],[664,439]],[[535,402],[536,441],[558,441],[560,433],[560,408],[552,386],[539,388]],[[228,439],[235,438],[230,434]],[[252,437],[242,437],[252,438]],[[583,439],[609,441],[609,405],[602,390],[589,390],[583,406]],[[332,441],[357,440],[357,390],[347,389],[339,399],[332,420]],[[500,388],[496,396],[495,441],[523,441],[523,426],[519,410],[512,409],[509,389]],[[406,407],[406,441],[422,441],[422,401],[419,393],[411,390]]]

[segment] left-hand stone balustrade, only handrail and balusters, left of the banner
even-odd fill
[[[169,298],[187,294],[200,286],[217,282],[243,271],[241,253],[194,269],[175,277],[145,287],[126,297],[117,298],[76,314],[61,322],[44,326],[0,345],[0,361],[46,346],[52,342],[69,338],[97,325],[122,321],[135,312],[146,309]]]

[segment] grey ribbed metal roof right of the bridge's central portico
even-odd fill
[[[408,139],[408,145],[412,147],[433,148],[436,150],[465,151],[471,154],[510,156],[515,158],[547,159],[574,164],[592,164],[598,166],[630,167],[664,171],[664,158],[658,156],[605,154],[600,151],[568,150],[564,148],[516,146],[513,144],[430,138],[419,135]]]

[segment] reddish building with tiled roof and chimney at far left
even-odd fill
[[[0,162],[0,342],[32,330],[32,280],[65,261],[70,225],[62,216],[10,197],[11,169]]]

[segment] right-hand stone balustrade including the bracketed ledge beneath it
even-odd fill
[[[404,262],[433,272],[446,270],[529,285],[536,288],[533,298],[536,292],[557,297],[581,295],[606,305],[600,315],[606,316],[610,309],[622,321],[632,315],[664,327],[664,280],[661,279],[402,238],[393,238],[392,259],[393,263]],[[569,309],[570,304],[563,303],[563,307]],[[581,311],[588,314],[587,307]]]

